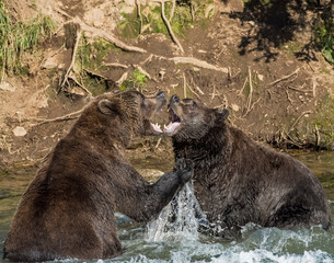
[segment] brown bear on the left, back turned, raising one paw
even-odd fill
[[[149,118],[165,102],[163,92],[145,98],[126,91],[95,99],[22,196],[4,241],[4,258],[49,261],[120,254],[114,213],[148,221],[192,176],[192,167],[181,164],[149,184],[125,158],[130,139],[151,133]]]

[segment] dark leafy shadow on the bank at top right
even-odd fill
[[[221,1],[227,3],[232,0]],[[243,12],[229,13],[230,18],[240,19],[242,23],[251,25],[239,44],[240,55],[257,50],[262,52],[263,56],[257,57],[256,60],[265,62],[275,60],[278,53],[275,53],[274,48],[292,41],[296,32],[313,30],[320,21],[331,18],[333,2],[334,0],[245,1]],[[312,35],[310,43],[304,45],[296,56],[300,59],[315,59],[313,50],[316,48],[319,49],[319,43]]]

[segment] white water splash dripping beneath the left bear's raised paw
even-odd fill
[[[159,217],[148,224],[147,241],[198,240],[198,210],[193,184],[186,183]]]

